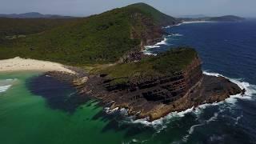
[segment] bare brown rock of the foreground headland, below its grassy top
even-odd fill
[[[202,74],[201,61],[195,57],[184,70],[172,75],[144,77],[113,84],[107,74],[90,76],[79,86],[82,94],[91,95],[110,108],[128,108],[138,118],[161,118],[206,102],[219,102],[242,90],[226,78]],[[81,88],[82,87],[82,88]]]

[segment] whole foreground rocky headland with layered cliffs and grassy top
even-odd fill
[[[189,57],[186,54],[190,54],[190,58],[184,58]],[[170,58],[170,62],[162,62],[166,58]],[[186,110],[206,102],[219,102],[232,94],[242,93],[236,84],[226,78],[202,74],[201,61],[194,50],[173,50],[144,61],[100,70],[98,74],[90,75],[86,82],[78,84],[79,90],[110,104],[111,109],[127,108],[129,114],[136,114],[137,118],[149,117],[150,120],[172,111]],[[123,66],[130,70],[122,71]],[[120,70],[123,74],[118,74]]]

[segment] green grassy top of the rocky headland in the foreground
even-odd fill
[[[93,73],[107,74],[114,83],[139,82],[142,78],[156,78],[163,75],[174,75],[188,66],[198,54],[191,48],[175,48],[158,56],[142,59],[140,62],[130,62],[109,66]]]

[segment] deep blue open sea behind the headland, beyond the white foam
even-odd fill
[[[192,46],[198,50],[204,70],[256,84],[256,20],[190,23],[166,31],[178,36],[167,37],[169,46],[152,49],[154,53],[175,46]]]

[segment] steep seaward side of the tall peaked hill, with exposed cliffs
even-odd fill
[[[131,8],[138,11],[130,11]],[[172,26],[180,22],[144,3],[130,5],[126,9],[130,11],[130,38],[139,39],[140,45],[124,54],[118,63],[141,60],[144,57],[142,50],[145,46],[154,45],[163,40],[166,32],[162,30],[162,26]]]

